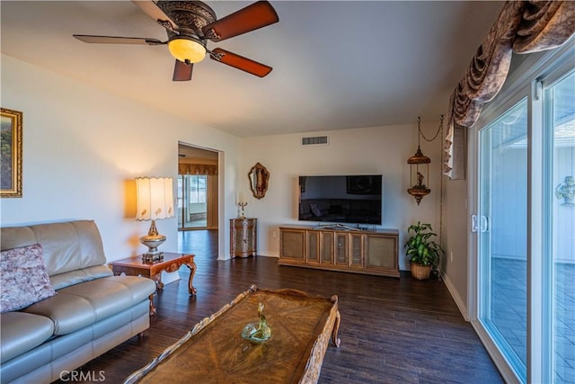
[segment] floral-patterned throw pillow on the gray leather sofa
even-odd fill
[[[0,253],[0,313],[54,296],[40,244]]]

